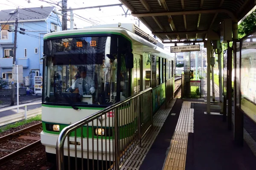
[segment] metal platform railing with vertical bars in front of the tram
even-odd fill
[[[61,130],[57,169],[119,170],[134,148],[141,147],[152,123],[152,88],[148,88]],[[75,167],[70,167],[71,157]]]

